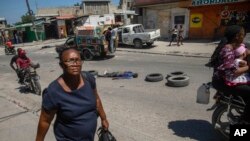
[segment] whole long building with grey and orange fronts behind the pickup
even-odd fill
[[[135,0],[138,23],[160,28],[169,38],[174,25],[183,25],[184,37],[219,39],[227,26],[238,24],[250,32],[249,0]]]

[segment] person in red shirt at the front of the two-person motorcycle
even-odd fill
[[[17,68],[18,68],[18,73],[20,74],[20,80],[19,82],[21,84],[23,84],[24,81],[24,77],[25,74],[27,73],[30,65],[31,65],[31,61],[30,59],[26,56],[26,51],[25,50],[21,50],[19,53],[19,57],[17,58]]]

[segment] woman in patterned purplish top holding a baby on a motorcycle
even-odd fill
[[[225,37],[227,42],[224,43],[218,53],[218,65],[214,67],[212,85],[215,89],[224,92],[225,94],[233,94],[241,96],[246,107],[241,117],[243,121],[250,120],[250,85],[242,84],[230,86],[226,83],[226,78],[230,76],[239,76],[249,71],[250,62],[247,66],[237,68],[235,65],[236,54],[235,50],[242,44],[245,37],[245,31],[241,26],[232,25],[226,28]],[[248,57],[250,55],[248,54]],[[250,122],[249,122],[250,123]]]

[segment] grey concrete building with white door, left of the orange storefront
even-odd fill
[[[184,38],[189,32],[189,0],[134,0],[138,23],[145,28],[159,28],[162,38],[171,36],[175,25],[183,25]]]

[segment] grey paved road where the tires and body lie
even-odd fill
[[[38,47],[27,47],[27,50],[32,60],[41,63],[38,73],[44,88],[61,73],[56,59],[57,54],[54,48],[40,50]],[[33,140],[41,97],[24,93],[20,89],[14,72],[8,67],[10,58],[11,56],[0,55],[0,96],[2,100],[8,102],[7,105],[12,105],[11,107],[19,105],[18,107],[21,108],[8,110],[3,108],[1,102],[1,111],[7,112],[3,115],[4,112],[2,112],[1,117],[23,112],[26,109],[29,112],[21,114],[28,119],[13,118],[15,122],[6,120],[1,123],[5,124],[1,132],[9,132],[13,126],[17,128],[16,137],[20,139],[26,137],[22,140]],[[206,108],[211,105],[195,103],[197,87],[208,81],[211,76],[211,70],[203,66],[206,61],[207,58],[118,51],[113,58],[85,61],[84,70],[94,69],[100,73],[104,70],[131,70],[139,74],[138,78],[130,80],[97,78],[100,96],[110,120],[110,130],[116,135],[118,141],[217,141],[218,136],[210,124],[211,112],[206,111]],[[165,76],[168,72],[176,70],[182,70],[190,76],[188,87],[166,87],[165,80],[157,83],[144,81],[148,73],[159,72]],[[26,132],[23,129],[23,122],[27,122]],[[54,140],[51,129],[47,135],[48,141]],[[0,134],[0,137],[2,136],[8,141],[14,141],[11,134]]]

